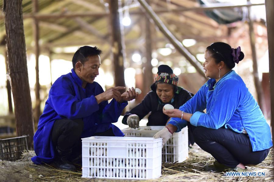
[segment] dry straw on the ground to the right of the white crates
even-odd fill
[[[195,148],[195,147],[194,147]],[[273,149],[267,158],[257,166],[248,166],[252,172],[265,172],[265,177],[223,177],[222,173],[203,171],[202,167],[212,164],[215,159],[202,149],[190,149],[189,158],[183,163],[163,163],[162,177],[157,181],[273,181]]]

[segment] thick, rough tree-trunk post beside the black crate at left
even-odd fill
[[[27,70],[22,1],[4,0],[3,12],[9,58],[8,78],[13,93],[16,132],[17,136],[27,135],[28,146],[33,148],[34,123]]]

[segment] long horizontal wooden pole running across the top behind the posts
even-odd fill
[[[265,5],[265,3],[257,3],[257,4],[243,4],[243,5],[226,5],[225,3],[215,3],[215,6],[205,6],[201,5],[200,7],[193,7],[193,8],[177,8],[177,9],[160,9],[155,10],[156,13],[173,13],[173,12],[183,12],[183,11],[205,11],[205,10],[212,10],[212,9],[227,9],[227,8],[237,8],[237,7],[250,7],[250,6],[258,6],[258,5]],[[132,11],[130,15],[142,15],[143,12],[140,11]],[[23,19],[27,18],[36,18],[36,19],[60,19],[60,18],[75,18],[75,17],[104,17],[108,16],[109,13],[107,12],[89,12],[89,13],[52,13],[52,14],[39,14],[39,13],[24,13]],[[0,15],[0,19],[4,16]]]

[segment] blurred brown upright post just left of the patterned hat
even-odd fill
[[[151,65],[151,54],[152,54],[152,44],[151,44],[151,23],[148,17],[145,17],[145,29],[146,29],[146,58],[147,62],[143,63],[143,84],[144,84],[144,94],[150,91],[150,86],[153,83],[152,65]]]

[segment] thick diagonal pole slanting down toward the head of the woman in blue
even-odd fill
[[[151,19],[153,19],[153,21],[155,22],[155,25],[159,28],[159,30],[165,35],[167,39],[169,39],[170,43],[175,47],[175,49],[179,53],[181,53],[190,62],[190,64],[192,64],[196,68],[197,72],[202,77],[207,79],[207,77],[205,77],[201,63],[195,59],[195,57],[183,46],[183,44],[178,39],[176,39],[176,37],[169,31],[169,29],[165,26],[162,20],[156,15],[156,13],[148,5],[148,3],[143,0],[138,0],[138,2],[144,8],[146,13],[151,17]]]

